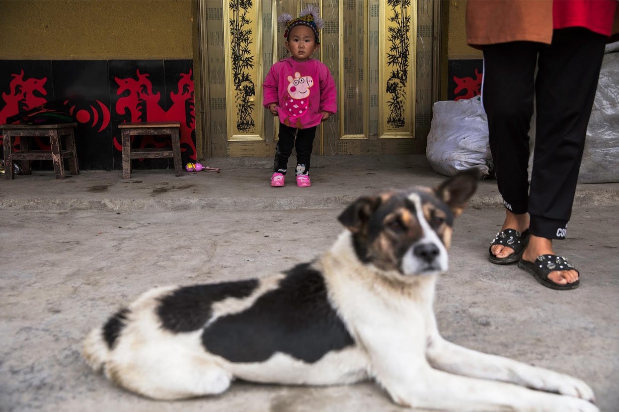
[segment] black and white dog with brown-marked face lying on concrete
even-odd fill
[[[433,314],[472,170],[436,188],[363,197],[311,263],[272,277],[159,287],[92,330],[84,356],[157,399],[222,393],[233,379],[334,385],[374,379],[400,405],[597,411],[581,380],[444,340]]]

